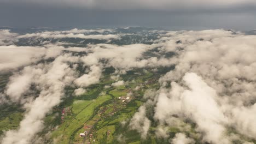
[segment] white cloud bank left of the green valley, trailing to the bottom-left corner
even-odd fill
[[[20,36],[17,37],[20,38]],[[11,101],[24,105],[24,109],[26,109],[25,117],[22,119],[19,129],[7,131],[2,143],[31,143],[33,136],[43,129],[45,115],[58,105],[65,96],[65,86],[75,83],[79,87],[88,87],[95,84],[100,81],[104,67],[113,66],[125,72],[125,70],[136,67],[154,67],[158,62],[157,58],[139,59],[143,52],[152,49],[150,45],[98,44],[89,45],[87,48],[83,50],[79,47],[65,48],[53,44],[42,47],[1,46],[1,51],[5,52],[5,55],[1,57],[1,64],[6,65],[3,67],[4,70],[25,66],[10,77],[8,86],[1,98],[7,95]],[[62,53],[63,50],[84,51],[86,54],[84,56],[72,56],[70,53]],[[15,56],[15,58],[12,59],[7,54]],[[50,57],[54,58],[53,62],[36,63],[40,59]],[[88,69],[84,71],[85,74],[79,77],[76,64],[81,62]],[[73,67],[69,67],[69,64]],[[117,86],[123,83],[124,81],[119,81],[113,85]],[[39,94],[33,93],[33,89],[30,89],[32,85],[39,91]],[[82,93],[82,90],[78,88],[75,93]],[[143,113],[143,110],[141,112]],[[135,121],[137,120],[140,121],[141,119],[135,118]],[[144,122],[141,133],[142,136],[146,137],[150,121],[147,118],[143,118],[142,121]],[[13,135],[15,135],[15,139]]]

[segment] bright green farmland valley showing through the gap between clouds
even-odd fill
[[[94,143],[117,143],[120,134],[130,134],[133,138],[127,139],[127,142],[139,140],[137,133],[134,133],[134,131],[129,132],[129,129],[122,129],[120,124],[121,122],[129,121],[143,102],[139,99],[132,99],[124,103],[118,97],[126,97],[127,93],[132,91],[131,88],[141,85],[139,82],[150,79],[152,76],[153,73],[138,75],[137,79],[127,83],[127,86],[110,87],[105,90],[102,89],[104,83],[112,81],[104,78],[104,82],[101,82],[101,85],[87,88],[86,93],[75,97],[73,103],[69,105],[69,107],[72,107],[72,113],[65,115],[65,121],[51,134],[52,139],[57,143],[86,143],[93,140],[95,140]],[[125,77],[127,75],[124,75],[123,79]],[[104,93],[107,95],[100,95],[102,91],[105,91]],[[135,98],[136,95],[139,94],[134,91],[131,97]],[[85,129],[85,125],[92,125],[93,127]],[[79,137],[79,133],[83,133],[86,130],[90,131],[88,133],[91,136]],[[132,136],[133,134],[135,135]]]

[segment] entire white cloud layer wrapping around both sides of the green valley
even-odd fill
[[[71,31],[80,33],[82,29]],[[24,66],[10,77],[0,99],[4,101],[8,95],[11,101],[26,109],[20,128],[7,131],[2,143],[31,143],[33,136],[43,128],[44,116],[65,97],[65,86],[74,83],[80,87],[75,92],[82,93],[82,87],[100,81],[104,68],[114,67],[113,75],[118,75],[134,68],[157,70],[173,64],[175,68],[159,79],[160,88],[144,94],[146,103],[131,118],[131,129],[146,139],[153,123],[151,119],[158,137],[168,137],[168,127],[176,127],[187,134],[194,123],[193,134],[199,136],[189,136],[201,142],[232,143],[237,139],[246,142],[247,137],[254,139],[256,36],[223,29],[159,33],[159,39],[152,45],[89,44],[86,49],[53,44],[0,46],[1,70]],[[155,49],[157,57],[144,56],[145,52]],[[83,55],[65,54],[63,50],[83,51]],[[175,55],[165,57],[162,54],[168,52]],[[36,63],[49,57],[54,58],[53,62]],[[78,63],[86,68],[82,73],[76,69]],[[123,84],[124,81],[112,83],[113,86]],[[31,85],[36,86],[38,95],[31,92]],[[149,106],[152,111],[147,111]],[[234,128],[235,134],[230,128]],[[177,134],[170,141],[185,143],[188,139],[184,134]]]

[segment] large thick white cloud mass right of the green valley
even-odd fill
[[[160,127],[156,134],[166,134],[163,125],[181,128],[173,124],[178,117],[196,123],[202,141],[232,143],[237,138],[228,134],[230,127],[255,137],[253,39],[254,35],[222,29],[162,34],[159,50],[176,55],[168,60],[175,69],[160,78],[155,98],[145,97],[147,104],[155,105],[154,118]],[[169,84],[171,88],[166,87]]]

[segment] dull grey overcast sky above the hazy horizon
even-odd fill
[[[0,0],[0,26],[256,28],[255,0]]]

